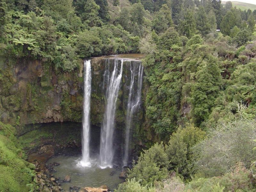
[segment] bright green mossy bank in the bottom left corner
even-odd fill
[[[33,166],[20,158],[22,153],[14,134],[14,127],[0,122],[0,191],[29,191],[33,185],[27,184],[35,176],[30,169]]]

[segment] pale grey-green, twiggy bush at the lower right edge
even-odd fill
[[[210,132],[210,137],[195,148],[198,156],[198,175],[203,177],[220,176],[243,162],[249,168],[255,161],[255,120],[237,120],[220,125]]]

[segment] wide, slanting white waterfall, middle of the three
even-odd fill
[[[109,77],[109,64],[107,72],[104,73],[104,81],[107,78],[108,88],[106,92],[107,106],[105,109],[104,120],[100,133],[100,166],[111,167],[114,156],[113,149],[113,132],[115,125],[116,100],[118,96],[119,85],[123,72],[123,62],[121,60],[121,68],[118,74],[118,59],[115,59],[114,69]],[[103,82],[104,83],[104,82]]]

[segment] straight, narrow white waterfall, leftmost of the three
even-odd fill
[[[82,138],[82,166],[90,166],[89,140],[90,140],[90,100],[91,100],[91,60],[84,61],[84,103],[83,103],[83,138]]]

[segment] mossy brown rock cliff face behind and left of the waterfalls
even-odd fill
[[[93,58],[91,124],[100,126],[106,105],[106,87],[104,72],[109,62],[109,71],[113,70],[114,58]],[[121,62],[121,60],[119,61]],[[51,63],[42,60],[0,60],[0,117],[3,123],[18,127],[22,133],[25,124],[82,121],[83,112],[83,61],[77,70],[56,72]],[[116,128],[124,130],[126,105],[131,81],[131,64],[140,64],[139,60],[124,61],[122,82],[118,92],[116,109]],[[119,65],[120,67],[120,65]],[[135,79],[138,78],[135,74]],[[147,85],[142,86],[142,103]],[[134,117],[135,137],[150,140],[150,133],[143,130],[144,110],[140,106]],[[20,128],[20,129],[19,129]],[[147,132],[147,131],[146,131]],[[148,136],[147,136],[148,134]]]

